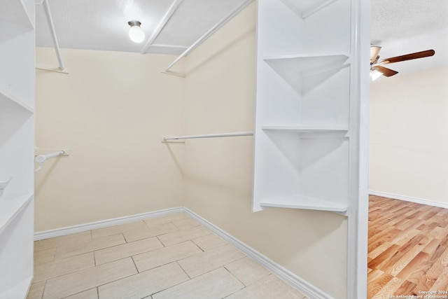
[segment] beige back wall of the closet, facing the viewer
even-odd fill
[[[183,79],[171,55],[62,49],[70,74],[36,71],[36,146],[70,148],[36,172],[36,231],[182,205],[162,135],[181,131]],[[57,65],[52,48],[36,62]],[[180,148],[179,148],[180,149]]]

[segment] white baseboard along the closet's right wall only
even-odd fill
[[[219,237],[225,239],[225,241],[229,242],[233,246],[237,247],[240,251],[246,253],[247,256],[250,256],[254,260],[256,260],[258,263],[260,263],[263,267],[265,267],[270,272],[276,274],[278,277],[286,281],[291,286],[297,288],[299,291],[307,295],[311,299],[330,299],[332,298],[327,293],[324,293],[319,288],[316,288],[316,286],[313,286],[312,284],[309,284],[309,282],[305,281],[304,279],[298,277],[293,272],[290,272],[286,268],[282,267],[278,263],[275,263],[270,258],[267,258],[267,256],[262,255],[262,253],[256,251],[251,246],[248,246],[247,244],[244,244],[243,242],[239,241],[239,239],[233,237],[232,235],[229,235],[228,232],[225,232],[221,228],[218,228],[218,226],[214,225],[213,223],[210,223],[209,221],[205,220],[201,216],[195,214],[195,212],[191,211],[190,209],[184,207],[183,208],[185,213],[190,216],[191,218],[195,219],[196,221],[200,222],[202,225],[204,225],[206,228],[214,232]]]

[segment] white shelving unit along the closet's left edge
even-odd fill
[[[33,275],[34,6],[0,2],[0,298],[25,298]]]

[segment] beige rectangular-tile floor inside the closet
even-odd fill
[[[180,213],[34,242],[36,298],[307,297]]]

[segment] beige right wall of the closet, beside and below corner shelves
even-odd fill
[[[186,59],[186,134],[253,130],[255,4]],[[346,298],[346,217],[251,211],[253,137],[187,140],[185,206],[335,298]]]

